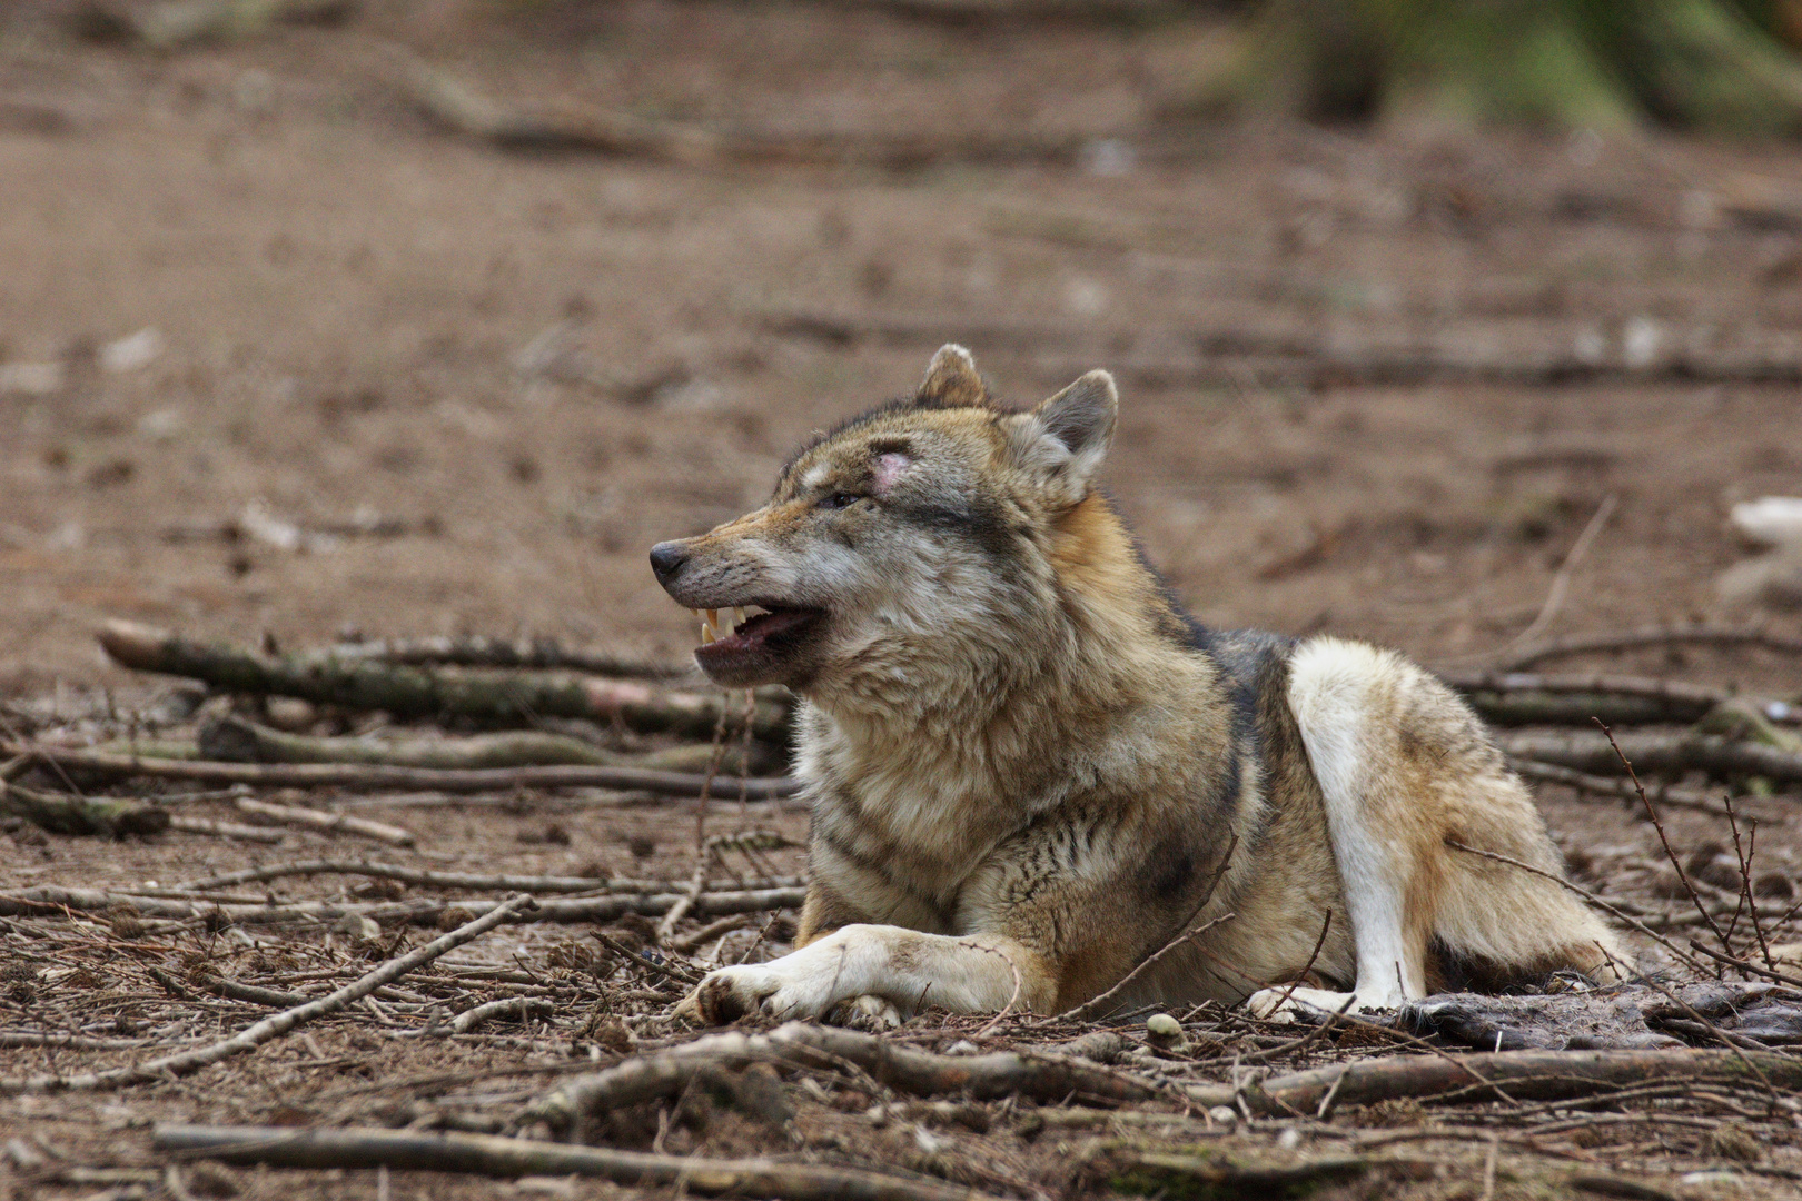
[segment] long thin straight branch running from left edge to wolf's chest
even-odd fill
[[[481,771],[436,771],[429,767],[380,767],[362,763],[214,763],[207,760],[160,760],[106,751],[74,751],[47,745],[7,745],[0,754],[29,754],[40,763],[105,776],[196,780],[202,783],[247,783],[265,789],[344,787],[362,790],[416,792],[514,792],[519,789],[618,789],[661,796],[701,796],[706,776],[647,767],[492,767]],[[800,792],[787,776],[721,776],[717,790],[742,789],[751,799],[777,799]]]

